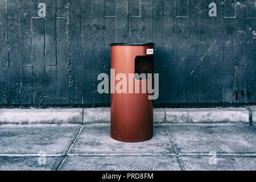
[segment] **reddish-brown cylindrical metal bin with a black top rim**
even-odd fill
[[[135,80],[153,77],[133,77],[133,92],[129,92],[129,73],[153,73],[154,43],[113,43],[110,44],[110,67],[115,75],[127,77],[127,93],[111,93],[111,137],[122,142],[142,142],[153,135],[153,105],[148,92],[135,93]],[[114,81],[114,86],[119,80]],[[131,89],[132,90],[132,89]]]

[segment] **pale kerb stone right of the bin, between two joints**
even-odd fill
[[[167,123],[249,123],[246,108],[166,108]]]

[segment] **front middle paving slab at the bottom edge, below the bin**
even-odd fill
[[[176,156],[68,156],[61,170],[180,170]]]

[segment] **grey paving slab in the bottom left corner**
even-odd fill
[[[63,158],[63,156],[46,157],[44,164],[39,156],[0,156],[0,171],[56,170]]]

